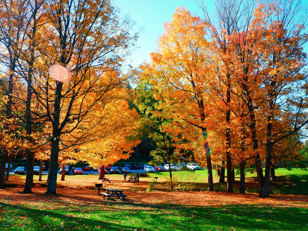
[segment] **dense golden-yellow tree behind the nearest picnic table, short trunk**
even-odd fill
[[[117,89],[114,91],[114,97],[118,97],[119,94],[128,97],[128,91],[127,88]],[[105,165],[130,157],[133,147],[140,143],[138,139],[140,122],[138,112],[135,108],[130,108],[124,98],[106,103],[100,108],[99,117],[91,117],[96,121],[96,126],[90,135],[93,136],[93,141],[78,146],[79,153],[75,155],[76,160],[103,169]],[[99,179],[104,177],[103,174],[104,171],[100,171]]]

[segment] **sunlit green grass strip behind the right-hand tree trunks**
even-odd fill
[[[264,174],[264,173],[263,173]],[[159,181],[168,182],[170,181],[169,172],[149,173],[147,178],[141,178],[141,180],[154,181],[154,177],[158,177]],[[302,169],[276,169],[275,170],[276,181],[270,182],[270,194],[293,194],[293,195],[308,195],[308,172]],[[179,191],[206,191],[208,182],[208,173],[206,169],[197,171],[182,171],[172,172],[173,180],[175,183],[175,189]],[[214,191],[226,192],[227,184],[219,183],[219,177],[215,176],[215,170],[213,170],[214,179]],[[246,193],[258,193],[256,173],[246,174]],[[226,181],[227,179],[225,179]],[[239,175],[235,176],[236,183],[233,184],[233,191],[239,192]],[[151,185],[152,190],[161,188]],[[165,190],[169,190],[170,187],[165,187]]]

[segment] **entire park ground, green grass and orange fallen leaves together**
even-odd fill
[[[25,176],[10,176],[6,183],[11,188],[0,190],[0,227],[48,231],[308,230],[308,175],[302,170],[276,171],[278,180],[273,187],[279,187],[272,188],[274,194],[266,199],[258,198],[256,193],[204,192],[206,170],[173,175],[176,181],[199,192],[169,192],[168,173],[148,175],[141,177],[140,183],[125,183],[121,175],[107,175],[111,184],[104,185],[123,188],[127,201],[106,201],[98,196],[94,188],[99,183],[97,175],[58,180],[56,196],[43,195],[46,183],[40,184],[37,176],[34,193],[22,194],[23,186],[17,182],[24,184]],[[157,183],[154,176],[158,177]],[[281,195],[281,188],[302,195]]]

